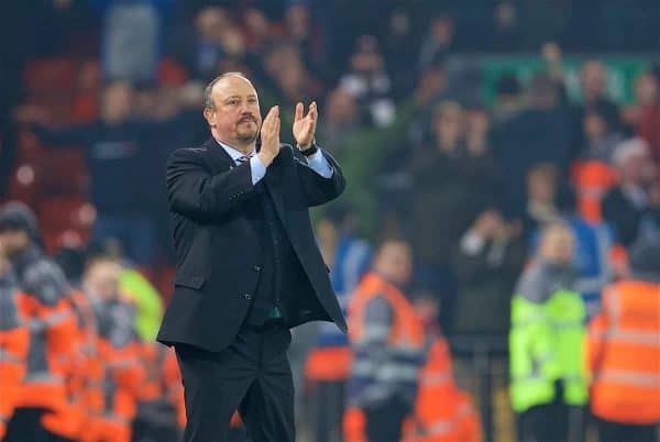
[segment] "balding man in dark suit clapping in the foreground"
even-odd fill
[[[296,147],[279,143],[278,112],[262,124],[250,80],[224,74],[206,90],[212,137],[167,164],[177,270],[158,341],[176,350],[186,442],[226,442],[237,409],[253,442],[294,442],[289,328],[346,331],[308,213],[345,181],[316,146],[316,103],[296,107]]]

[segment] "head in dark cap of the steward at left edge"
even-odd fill
[[[36,217],[22,202],[8,202],[0,209],[0,254],[11,257],[38,242]]]

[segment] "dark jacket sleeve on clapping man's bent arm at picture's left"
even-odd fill
[[[213,175],[195,151],[175,151],[167,162],[169,206],[185,217],[221,216],[254,195],[250,164]]]

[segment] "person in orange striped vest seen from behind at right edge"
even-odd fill
[[[590,323],[591,410],[600,442],[656,442],[660,423],[660,242],[630,254],[631,275]]]

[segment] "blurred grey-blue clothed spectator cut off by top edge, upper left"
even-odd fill
[[[103,77],[150,81],[161,62],[162,16],[172,0],[102,0]]]

